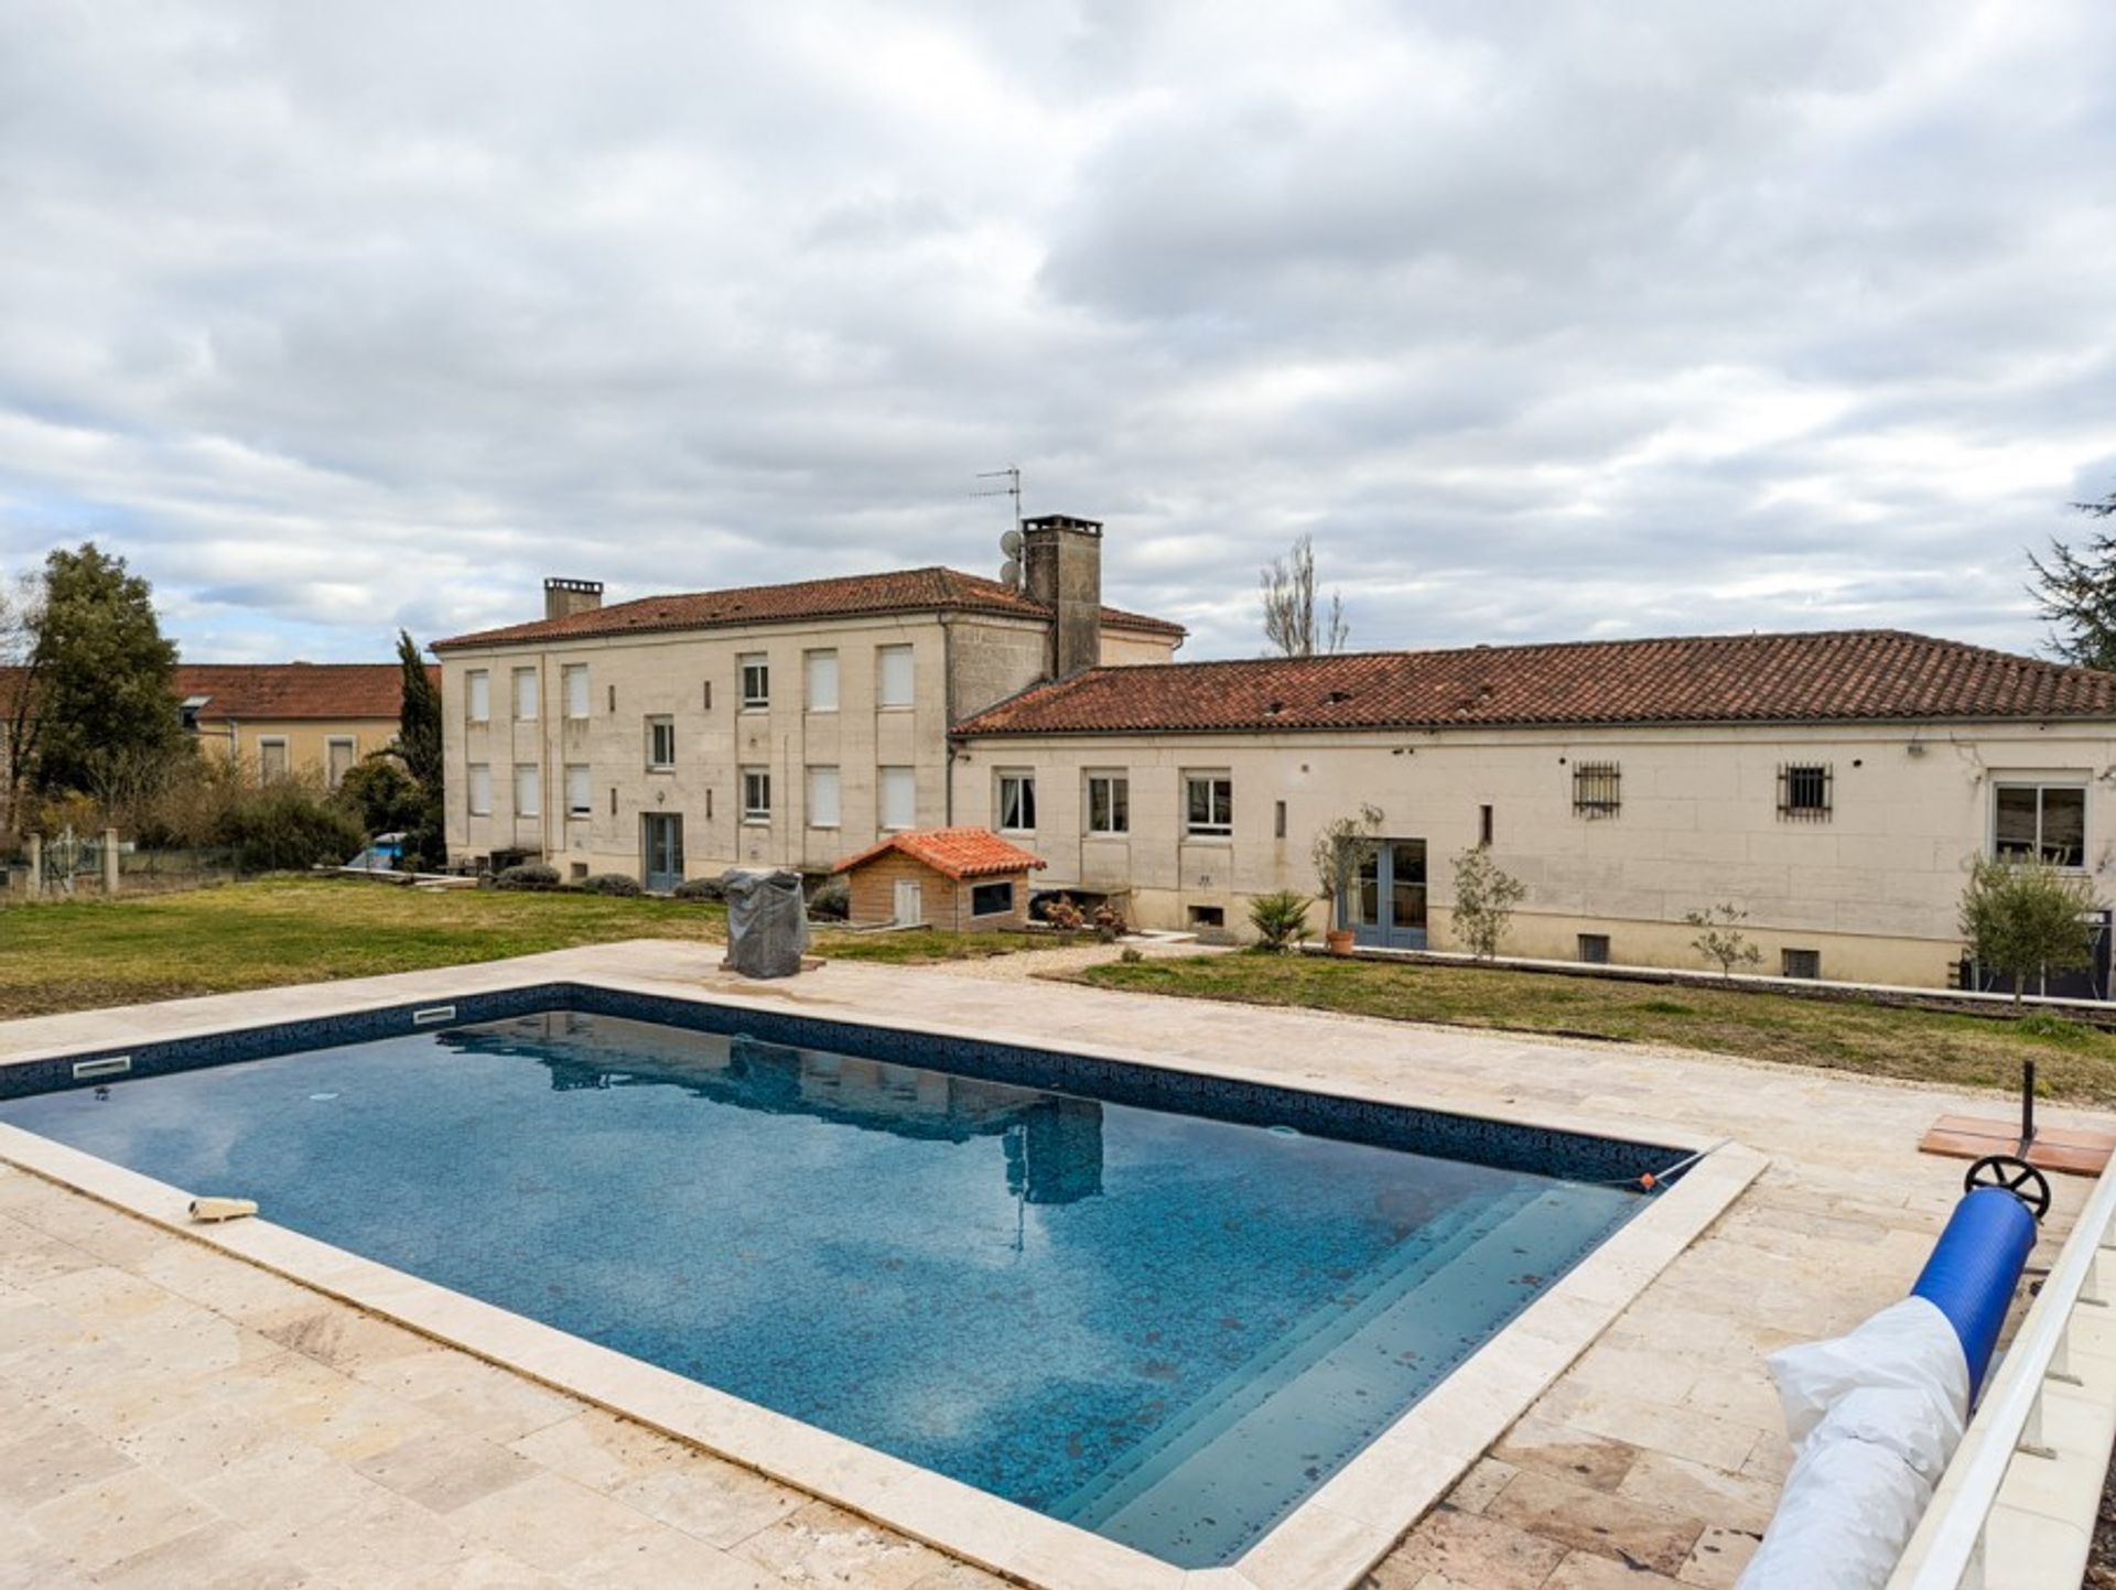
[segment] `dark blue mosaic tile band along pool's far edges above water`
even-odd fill
[[[451,1021],[417,1025],[415,1011],[455,1006]],[[1583,1182],[1636,1180],[1659,1173],[1682,1159],[1680,1148],[1665,1144],[1593,1138],[1581,1131],[1530,1127],[1488,1116],[1426,1110],[1405,1104],[1373,1104],[1329,1093],[1310,1093],[1270,1083],[1229,1076],[1166,1070],[1145,1061],[1069,1055],[1052,1049],[980,1042],[906,1028],[865,1025],[796,1015],[789,1011],[753,1011],[707,1000],[582,983],[537,983],[531,987],[466,994],[453,1000],[430,998],[389,1004],[375,1011],[275,1021],[233,1032],[212,1032],[195,1038],[167,1038],[127,1047],[97,1049],[0,1064],[0,1099],[30,1093],[53,1093],[70,1087],[97,1087],[135,1076],[165,1076],[201,1066],[226,1066],[239,1059],[267,1059],[303,1049],[336,1049],[341,1044],[400,1038],[406,1032],[444,1032],[449,1028],[506,1021],[542,1011],[580,1011],[633,1021],[658,1021],[690,1032],[747,1036],[789,1049],[821,1049],[861,1059],[975,1076],[1016,1087],[1041,1087],[1081,1093],[1105,1104],[1126,1104],[1145,1110],[1179,1110],[1212,1121],[1240,1125],[1287,1125],[1318,1138],[1401,1148],[1437,1159],[1462,1159],[1509,1171],[1564,1176]],[[131,1070],[118,1076],[74,1078],[83,1061],[131,1057]]]

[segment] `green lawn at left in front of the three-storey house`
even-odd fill
[[[0,907],[0,1019],[408,973],[612,939],[722,939],[726,911],[601,894],[421,894],[309,877]]]

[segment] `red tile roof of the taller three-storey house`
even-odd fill
[[[508,624],[499,630],[455,634],[436,641],[436,651],[525,641],[571,641],[603,634],[652,634],[658,630],[713,630],[736,624],[794,624],[815,617],[859,617],[868,613],[995,613],[1001,617],[1050,617],[1050,609],[997,579],[980,579],[959,569],[893,569],[882,575],[840,575],[796,579],[789,586],[743,586],[698,590],[677,596],[641,596],[635,603],[595,607],[569,617]],[[1164,617],[1102,609],[1113,630],[1181,639],[1185,628]]]

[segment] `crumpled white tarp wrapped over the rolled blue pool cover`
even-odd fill
[[[1968,1421],[1955,1328],[1904,1298],[1849,1336],[1771,1355],[1792,1438],[1777,1514],[1735,1590],[1881,1590]]]

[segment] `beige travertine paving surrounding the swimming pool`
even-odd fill
[[[15,1021],[0,1023],[0,1061],[463,994],[535,968],[738,987],[819,1015],[916,1011],[1445,1095],[1471,1112],[1665,1125],[1769,1154],[1375,1569],[1378,1590],[1731,1586],[1788,1457],[1765,1353],[1902,1294],[1962,1176],[1919,1157],[1917,1138],[1945,1110],[1993,1108],[1826,1072],[950,966],[829,964],[755,985],[713,960],[715,947],[631,943]],[[2084,1184],[2059,1178],[2057,1192],[2033,1262],[2048,1262]],[[829,1503],[0,1165],[0,1590],[988,1584]]]

